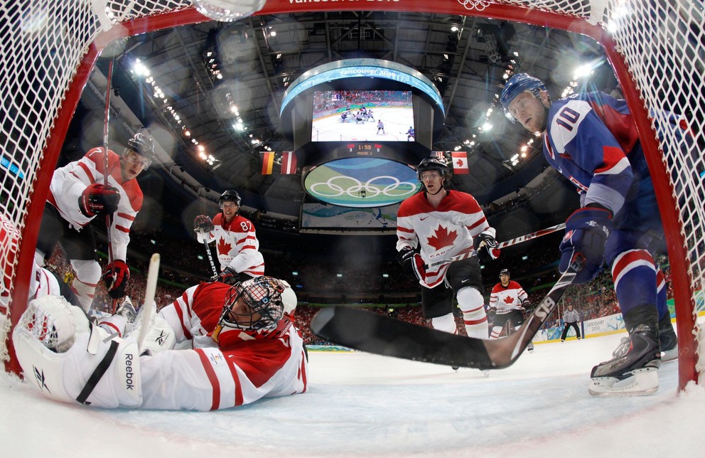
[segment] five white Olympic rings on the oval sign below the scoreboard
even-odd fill
[[[387,184],[375,184],[376,181],[384,181],[385,179],[392,181]],[[345,188],[345,182],[348,181],[348,187]],[[340,183],[340,184],[338,184]],[[311,193],[316,193],[321,197],[340,197],[347,194],[352,198],[374,198],[383,194],[390,198],[404,198],[405,196],[413,196],[416,193],[418,183],[411,181],[399,181],[396,176],[375,176],[367,180],[365,183],[353,178],[352,176],[332,176],[327,181],[313,183],[309,189]],[[321,191],[317,191],[321,189]]]

